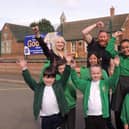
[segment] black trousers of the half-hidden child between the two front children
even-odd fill
[[[75,129],[76,108],[72,108],[63,119],[62,129]]]

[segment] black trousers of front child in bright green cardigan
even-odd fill
[[[86,129],[107,129],[106,119],[102,116],[88,116],[85,118]]]

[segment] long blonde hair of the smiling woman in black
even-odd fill
[[[52,41],[52,50],[53,50],[53,52],[54,52],[56,55],[59,55],[58,50],[56,49],[56,42],[57,42],[58,40],[61,40],[61,41],[64,43],[64,48],[63,48],[62,51],[64,52],[64,54],[66,54],[66,41],[65,41],[65,39],[64,39],[62,36],[60,36],[60,35],[56,35],[56,36],[53,38],[53,41]]]

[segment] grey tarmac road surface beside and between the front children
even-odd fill
[[[32,103],[33,92],[21,75],[0,74],[0,129],[40,129],[39,120],[35,121],[33,117]],[[76,129],[84,129],[79,92]]]

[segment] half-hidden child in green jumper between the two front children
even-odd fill
[[[59,61],[57,65],[58,74],[56,79],[59,80],[64,72],[66,67],[66,62]],[[65,86],[65,98],[68,104],[69,112],[64,118],[62,129],[75,129],[75,120],[76,120],[76,88],[71,80],[71,76]]]

